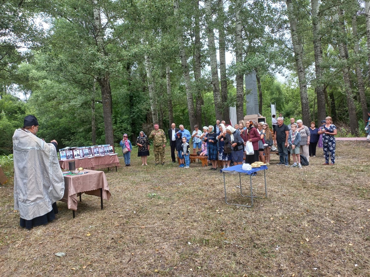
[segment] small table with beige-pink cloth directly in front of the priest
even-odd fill
[[[109,191],[107,178],[103,171],[83,170],[87,172],[80,175],[63,175],[64,177],[64,195],[60,200],[67,203],[68,209],[77,211],[77,196],[85,193],[88,195],[100,196],[101,209],[103,209],[103,199],[109,200],[111,193]]]

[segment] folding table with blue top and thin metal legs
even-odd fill
[[[221,172],[223,173],[223,188],[225,189],[225,203],[228,204],[228,205],[244,206],[244,207],[251,208],[253,206],[253,197],[254,198],[258,197],[258,196],[253,196],[252,174],[254,172],[258,172],[260,170],[263,170],[263,174],[265,175],[265,196],[267,197],[266,169],[268,169],[267,166],[266,165],[262,165],[261,167],[258,167],[258,168],[252,168],[252,170],[243,170],[241,164],[234,165],[232,167],[222,169]],[[248,205],[241,205],[241,204],[228,203],[227,197],[226,197],[225,173],[239,173],[240,195],[242,195],[243,197],[250,197],[250,202],[251,202],[250,206],[248,206]],[[249,175],[250,195],[243,195],[241,174]]]

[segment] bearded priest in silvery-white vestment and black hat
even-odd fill
[[[19,210],[20,226],[27,229],[55,219],[55,202],[64,194],[58,143],[46,143],[36,136],[37,130],[36,117],[28,115],[13,135],[14,209]]]

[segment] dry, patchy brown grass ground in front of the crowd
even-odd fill
[[[0,276],[370,276],[369,150],[340,141],[335,166],[321,165],[318,148],[302,170],[274,155],[268,198],[253,208],[226,205],[222,174],[200,163],[154,166],[151,152],[142,167],[133,153],[132,167],[105,171],[103,210],[83,195],[75,219],[58,202],[57,219],[31,230],[19,227],[10,182],[0,189]],[[226,180],[229,201],[245,201],[238,174]],[[253,184],[262,196],[262,173]]]

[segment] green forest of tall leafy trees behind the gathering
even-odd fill
[[[272,102],[285,119],[330,115],[341,135],[362,135],[369,10],[357,0],[1,0],[0,155],[26,114],[59,147],[122,133],[135,142],[152,123],[193,130],[227,121],[229,106],[242,119],[252,71],[270,125]]]

